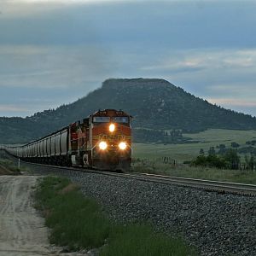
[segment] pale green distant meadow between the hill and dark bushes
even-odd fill
[[[161,156],[168,156],[178,162],[183,162],[195,158],[199,154],[200,148],[207,153],[210,147],[216,147],[219,144],[225,144],[227,148],[230,148],[230,144],[233,142],[245,146],[247,141],[256,139],[256,131],[210,129],[199,133],[183,134],[183,136],[190,137],[191,143],[166,145],[133,143],[133,157],[157,159]]]

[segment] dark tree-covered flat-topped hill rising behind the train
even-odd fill
[[[131,113],[136,140],[141,142],[148,141],[147,137],[159,137],[162,142],[166,137],[167,143],[183,141],[181,131],[256,129],[256,118],[212,105],[164,79],[108,79],[72,104],[25,119],[0,118],[0,143],[24,143],[44,136],[99,108]]]

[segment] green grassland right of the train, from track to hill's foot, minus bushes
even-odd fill
[[[219,144],[225,144],[226,148],[230,148],[231,143],[239,143],[241,147],[246,146],[247,141],[256,140],[256,131],[211,129],[195,134],[184,134],[184,137],[190,137],[190,143],[134,143],[132,170],[134,172],[151,172],[177,177],[256,184],[256,172],[183,165],[184,161],[195,159],[201,148],[207,154],[210,147],[216,147]],[[160,160],[163,157],[176,160],[177,166],[164,164]],[[241,162],[244,160],[243,157],[244,154],[241,154]]]

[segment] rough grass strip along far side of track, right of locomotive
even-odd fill
[[[135,160],[132,172],[154,173],[175,177],[191,177],[233,183],[256,184],[256,172],[240,170],[223,170],[218,168],[160,163],[156,160]]]

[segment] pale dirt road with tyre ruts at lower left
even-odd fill
[[[44,218],[32,206],[35,176],[0,177],[0,255],[56,255]]]

